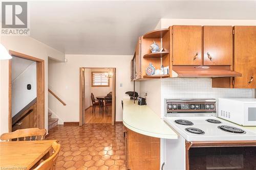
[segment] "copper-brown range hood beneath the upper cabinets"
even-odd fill
[[[173,77],[179,78],[218,78],[218,77],[241,77],[242,74],[240,72],[232,71],[229,65],[222,66],[198,66],[198,65],[190,65],[183,66],[174,65],[172,68]]]

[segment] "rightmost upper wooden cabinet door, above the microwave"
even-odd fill
[[[234,27],[234,88],[256,88],[256,26]]]

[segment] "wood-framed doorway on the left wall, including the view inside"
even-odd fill
[[[15,65],[16,68],[18,67],[19,69],[15,69],[16,72],[12,72],[12,60],[9,60],[9,132],[33,127],[44,129],[45,61],[11,50],[9,53],[16,61],[24,61],[25,63],[19,63],[19,66]],[[33,72],[31,70],[33,70]],[[13,78],[12,75],[15,75],[15,78]],[[18,82],[15,84],[16,81],[22,84],[18,84]],[[17,90],[17,88],[19,88],[19,90]],[[22,93],[20,93],[20,90],[23,90]],[[29,95],[29,99],[24,102],[25,97],[23,95],[27,94]],[[22,102],[19,102],[19,100]],[[17,103],[19,106],[16,105]],[[20,105],[20,103],[23,103],[23,105]]]

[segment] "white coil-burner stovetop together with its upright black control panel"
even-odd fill
[[[256,132],[216,117],[214,99],[166,100],[164,121],[187,141],[256,140]]]

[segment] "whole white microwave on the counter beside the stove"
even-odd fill
[[[242,126],[256,126],[256,99],[220,98],[218,117]]]

